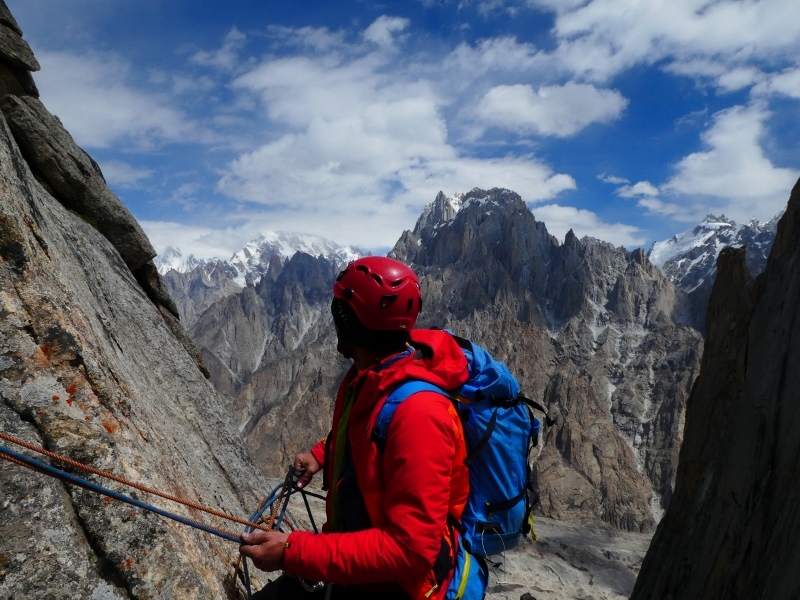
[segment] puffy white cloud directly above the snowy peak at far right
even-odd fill
[[[714,115],[702,136],[707,149],[683,158],[661,189],[739,222],[775,216],[785,207],[800,171],[776,167],[764,155],[760,140],[768,116],[761,103]]]

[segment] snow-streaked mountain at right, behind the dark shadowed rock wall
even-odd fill
[[[724,215],[708,215],[693,229],[654,242],[647,256],[677,287],[688,293],[713,283],[717,256],[725,246],[746,246],[747,266],[755,276],[766,264],[780,216],[766,223],[753,219],[739,225]]]

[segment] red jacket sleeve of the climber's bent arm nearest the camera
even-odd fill
[[[295,531],[283,553],[286,572],[353,584],[423,577],[441,547],[459,443],[458,416],[432,392],[406,399],[392,418],[383,453],[382,528],[353,533]]]

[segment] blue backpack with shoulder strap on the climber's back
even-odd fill
[[[467,444],[464,462],[470,491],[460,523],[453,522],[463,548],[455,565],[453,594],[448,590],[447,598],[470,600],[482,598],[486,588],[488,575],[482,559],[513,548],[531,531],[529,517],[538,492],[528,459],[541,427],[531,409],[546,411],[520,395],[519,384],[504,363],[469,340],[455,335],[453,339],[467,359],[467,382],[450,391],[423,381],[401,384],[381,408],[372,437],[385,444],[397,407],[412,394],[432,391],[456,402]]]

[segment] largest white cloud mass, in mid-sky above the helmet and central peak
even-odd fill
[[[342,45],[267,59],[238,77],[235,89],[264,106],[257,122],[276,133],[227,165],[220,191],[267,206],[271,229],[380,247],[440,189],[501,186],[540,202],[575,187],[533,155],[463,155],[448,140],[441,65],[391,60],[371,44]]]

